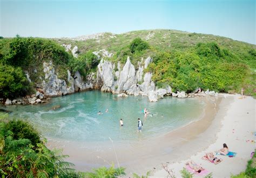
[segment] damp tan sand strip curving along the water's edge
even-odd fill
[[[203,133],[205,129],[210,127],[211,122],[214,120],[215,114],[217,113],[214,107],[217,107],[216,109],[218,110],[221,97],[211,97],[211,99],[217,102],[216,105],[211,103],[209,98],[210,96],[197,98],[206,103],[204,113],[197,121],[193,121],[188,125],[177,128],[157,138],[142,140],[138,136],[138,141],[128,142],[126,145],[114,142],[120,166],[126,168],[127,176],[132,175],[132,173],[145,174],[148,170],[160,170],[159,164],[164,160],[163,163],[168,162],[171,155],[178,158],[179,156],[176,156],[177,148],[190,142],[190,139],[196,138],[199,133]],[[193,127],[200,125],[200,123],[201,128],[197,129],[199,132],[191,134],[190,131],[193,130]],[[70,156],[66,161],[75,163],[75,168],[80,171],[91,171],[93,167],[109,167],[111,162],[117,166],[112,145],[108,145],[107,149],[102,149],[100,143],[97,143],[96,147],[98,146],[98,148],[96,150],[92,150],[86,146],[75,146],[76,143],[72,142],[54,140],[49,140],[47,145],[49,148],[62,148],[63,154]]]

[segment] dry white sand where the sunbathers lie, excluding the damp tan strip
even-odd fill
[[[219,110],[211,126],[199,134],[198,138],[183,145],[183,148],[186,148],[185,152],[190,154],[189,158],[183,155],[184,149],[182,149],[178,162],[169,160],[168,167],[173,170],[176,177],[181,177],[180,170],[185,167],[188,160],[200,164],[212,173],[213,177],[230,177],[232,174],[236,175],[245,170],[251,152],[255,149],[255,143],[248,141],[255,140],[253,135],[256,130],[255,99],[252,97],[239,99],[241,95],[228,94],[222,94],[220,97],[224,97],[224,99],[219,105]],[[237,156],[234,158],[218,156],[223,159],[223,162],[218,165],[201,159],[205,153],[220,149],[223,143],[227,144],[230,151],[237,152]],[[194,147],[197,147],[197,150]],[[164,169],[156,170],[152,174],[152,177],[166,176],[167,173]]]

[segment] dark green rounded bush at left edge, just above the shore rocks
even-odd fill
[[[14,98],[29,90],[29,81],[21,67],[0,64],[0,97]]]

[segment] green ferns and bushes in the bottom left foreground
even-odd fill
[[[4,145],[0,173],[9,177],[62,177],[73,173],[69,168],[72,164],[63,161],[66,156],[49,150],[38,138],[37,131],[27,122],[1,121],[0,140]]]

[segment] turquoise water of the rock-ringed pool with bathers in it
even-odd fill
[[[60,107],[51,109],[56,105]],[[153,116],[144,118],[144,108]],[[203,108],[204,102],[198,99],[165,97],[149,102],[147,97],[118,98],[100,91],[56,97],[48,104],[7,107],[11,118],[30,121],[48,139],[86,142],[109,141],[109,137],[116,141],[137,139],[138,118],[143,121],[144,138],[159,136],[199,119]],[[99,111],[103,114],[98,115]],[[119,126],[120,118],[123,127]]]

